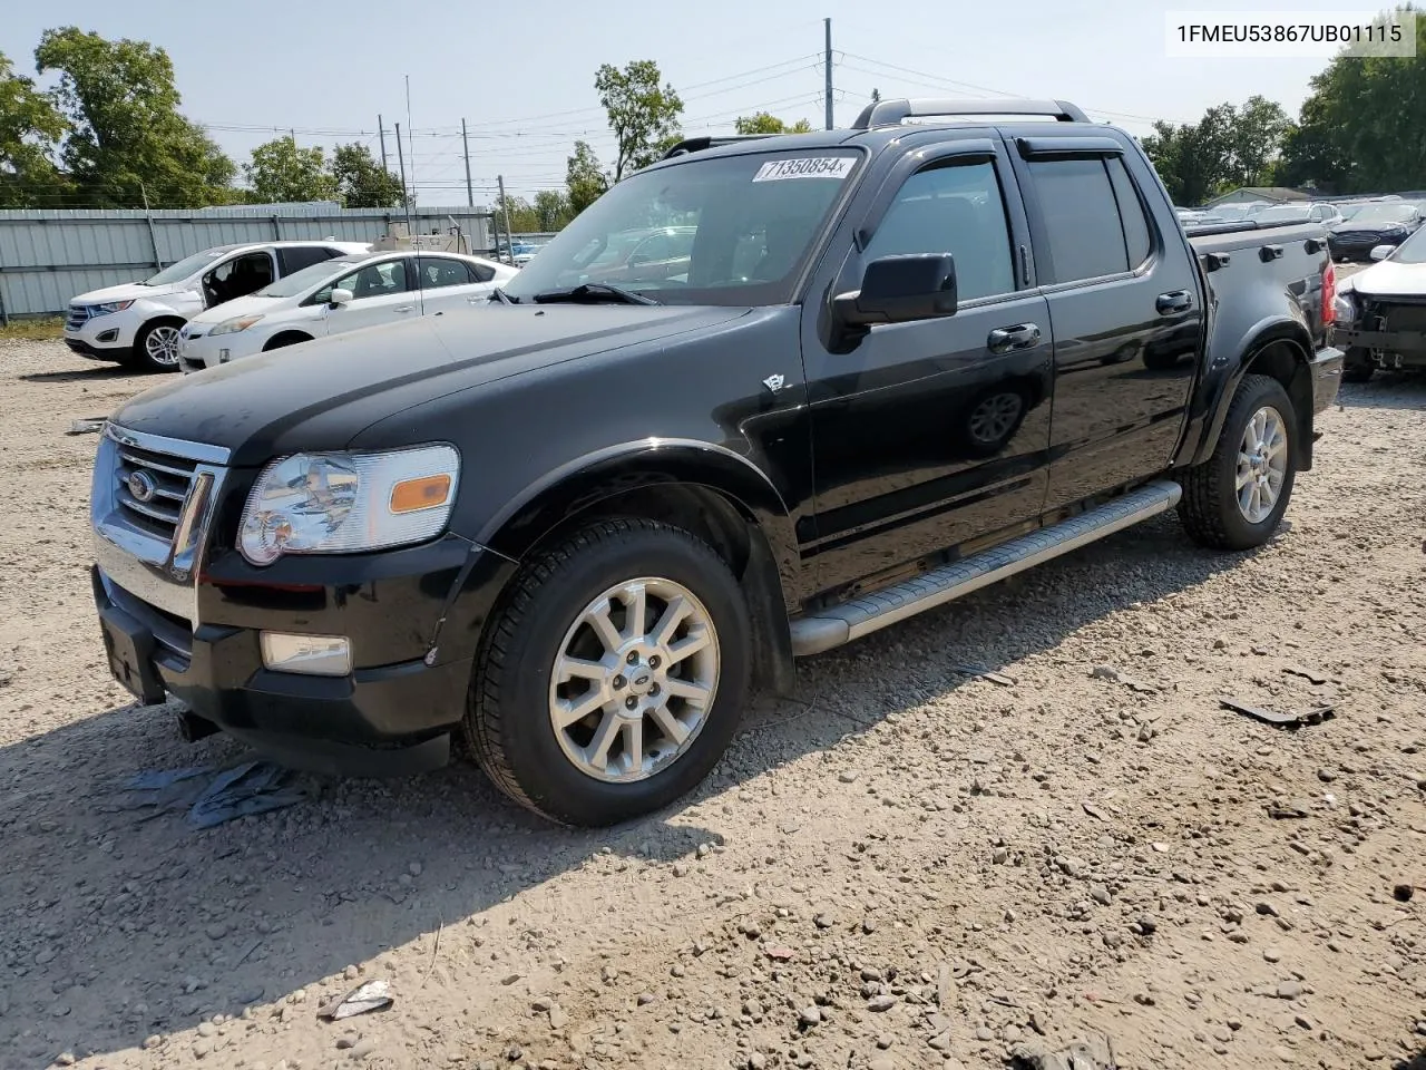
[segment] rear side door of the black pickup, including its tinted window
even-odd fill
[[[1168,467],[1202,352],[1198,274],[1148,164],[1111,137],[1018,137],[1035,263],[1054,328],[1045,509]]]

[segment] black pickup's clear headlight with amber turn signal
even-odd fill
[[[389,454],[295,454],[248,494],[238,549],[254,565],[284,554],[359,554],[424,542],[451,516],[461,455],[431,445]]]

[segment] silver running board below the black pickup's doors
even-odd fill
[[[860,639],[863,635],[934,609],[971,591],[980,591],[1061,554],[1087,546],[1105,535],[1131,528],[1149,516],[1168,512],[1182,496],[1184,488],[1175,482],[1166,479],[1152,482],[1052,528],[1021,535],[884,591],[820,609],[814,616],[799,618],[791,625],[793,653],[807,658]]]

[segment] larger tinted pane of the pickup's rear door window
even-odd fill
[[[1124,223],[1104,158],[1031,160],[1030,175],[1054,261],[1051,282],[1129,270]]]

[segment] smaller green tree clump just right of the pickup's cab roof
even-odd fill
[[[1255,96],[1242,107],[1212,107],[1195,124],[1155,123],[1144,151],[1175,204],[1202,204],[1239,185],[1271,184],[1291,126],[1281,106]]]

